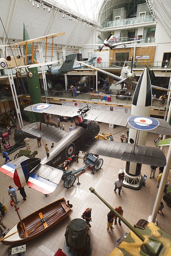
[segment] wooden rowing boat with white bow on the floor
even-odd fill
[[[69,201],[61,198],[21,219],[0,241],[9,245],[34,239],[69,215],[71,207]]]

